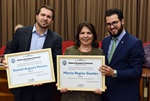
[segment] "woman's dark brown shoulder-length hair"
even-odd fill
[[[77,34],[76,34],[76,44],[75,46],[76,47],[79,47],[80,46],[80,40],[79,40],[79,34],[82,30],[83,27],[87,27],[93,34],[93,41],[92,41],[92,46],[95,47],[95,48],[98,48],[99,47],[99,43],[98,43],[98,40],[97,40],[97,33],[95,31],[95,27],[92,23],[90,22],[87,22],[87,21],[84,21],[82,23],[80,23],[78,25],[78,29],[77,29]]]

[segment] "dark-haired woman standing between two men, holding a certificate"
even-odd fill
[[[66,49],[65,55],[102,55],[99,48],[97,33],[93,24],[84,21],[78,25],[75,45]],[[98,68],[97,68],[98,69]],[[68,82],[69,83],[69,82]],[[61,101],[101,101],[100,89],[92,91],[69,91],[67,88],[60,90],[63,93]]]

